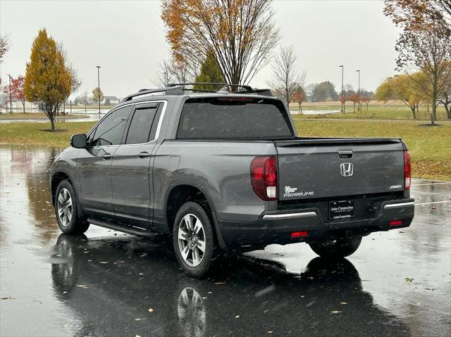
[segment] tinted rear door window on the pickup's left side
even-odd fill
[[[158,103],[152,103],[135,108],[125,144],[144,144],[153,139],[151,130],[152,125],[158,123],[158,106]]]

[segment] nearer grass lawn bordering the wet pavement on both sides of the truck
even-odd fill
[[[301,136],[400,137],[412,155],[416,178],[451,180],[451,124],[421,127],[421,122],[365,122],[362,120],[296,120]],[[87,133],[94,122],[0,124],[0,144],[64,147],[71,134]]]

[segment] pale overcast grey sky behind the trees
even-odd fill
[[[383,1],[274,1],[275,21],[283,32],[280,44],[293,45],[299,72],[307,83],[330,80],[374,90],[395,72],[399,31],[382,13]],[[0,32],[10,34],[11,50],[1,76],[25,74],[30,49],[40,28],[63,42],[82,79],[80,91],[97,86],[101,65],[105,95],[123,97],[152,87],[159,62],[169,57],[159,1],[21,1],[0,0]],[[271,67],[254,77],[254,87],[267,87]]]

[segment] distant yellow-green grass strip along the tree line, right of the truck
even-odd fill
[[[339,102],[309,102],[302,103],[302,110],[340,110]],[[290,104],[290,110],[297,111],[298,105],[296,103]],[[366,110],[366,106],[362,104],[362,111],[353,113],[353,104],[346,102],[345,113],[330,113],[328,115],[295,115],[296,118],[310,119],[310,118],[327,118],[327,119],[374,119],[374,120],[414,120],[412,111],[407,108],[402,102],[388,101],[381,103],[378,101],[371,101]],[[418,120],[431,120],[431,108],[429,111],[426,106],[420,106],[419,113],[417,113]],[[443,106],[437,109],[437,120],[448,120]]]

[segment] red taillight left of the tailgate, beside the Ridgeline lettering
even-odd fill
[[[277,200],[276,157],[255,157],[251,163],[251,183],[261,200]]]

